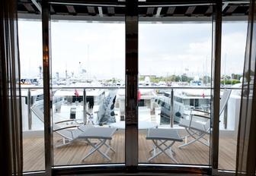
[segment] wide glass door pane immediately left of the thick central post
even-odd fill
[[[51,7],[53,165],[123,163],[124,8]]]

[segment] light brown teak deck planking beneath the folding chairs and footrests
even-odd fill
[[[55,136],[55,142],[59,137]],[[209,165],[210,148],[201,143],[194,143],[178,149],[181,143],[174,143],[172,149],[176,152],[174,158],[179,164]],[[111,146],[116,152],[108,152],[111,162],[104,159],[98,152],[94,152],[85,162],[81,159],[88,153],[91,146],[81,141],[53,149],[54,165],[79,165],[96,163],[124,163],[124,134],[115,134]],[[44,142],[43,138],[25,138],[24,143],[24,171],[44,170]],[[139,134],[139,162],[146,163],[149,150],[152,149],[152,141],[146,140],[145,134]],[[103,149],[104,150],[104,149]],[[235,170],[236,141],[229,138],[219,139],[219,168]],[[150,163],[174,164],[168,156],[161,154]]]

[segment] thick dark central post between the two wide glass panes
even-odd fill
[[[126,1],[126,87],[125,87],[125,165],[136,168],[138,165],[138,6],[136,0]]]

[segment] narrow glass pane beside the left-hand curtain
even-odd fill
[[[45,170],[42,22],[39,14],[35,16],[35,20],[30,20],[29,16],[22,16],[21,12],[18,18],[23,171]]]

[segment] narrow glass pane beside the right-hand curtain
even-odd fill
[[[229,100],[219,116],[219,169],[235,171],[238,124],[245,61],[248,16],[226,18],[226,14],[247,11],[248,2],[238,7],[230,2],[222,9],[221,90],[231,91]]]

